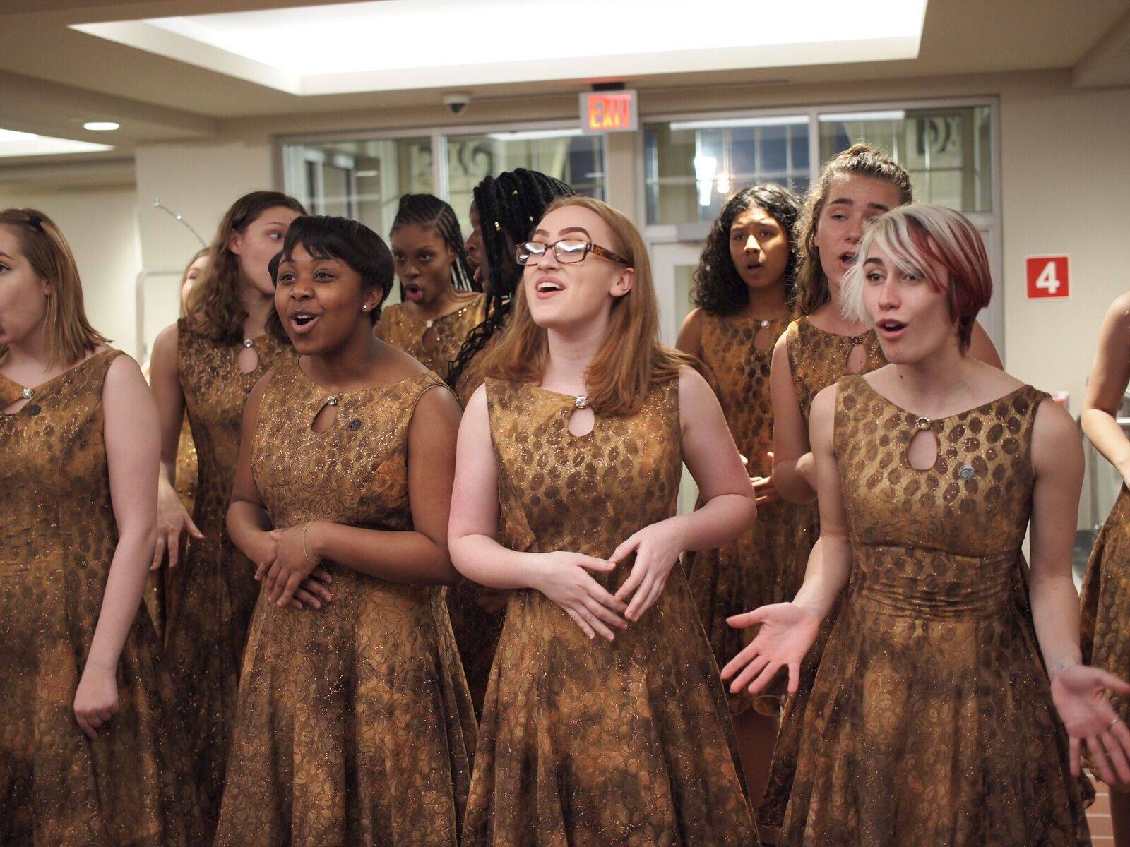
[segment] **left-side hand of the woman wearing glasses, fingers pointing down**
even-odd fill
[[[615,570],[614,562],[564,550],[541,553],[540,560],[542,568],[532,587],[564,609],[589,638],[600,634],[611,641],[616,638],[612,628],[628,628],[623,617],[627,603],[605,591],[589,575],[590,570],[606,574]]]

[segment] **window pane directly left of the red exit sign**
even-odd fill
[[[531,130],[447,137],[449,202],[463,232],[470,232],[472,191],[485,176],[524,167],[570,184],[581,194],[605,199],[603,138],[579,130]]]

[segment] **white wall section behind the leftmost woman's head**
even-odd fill
[[[68,191],[0,189],[0,208],[32,207],[50,217],[75,253],[90,323],[137,356],[134,283],[141,270],[132,186]]]

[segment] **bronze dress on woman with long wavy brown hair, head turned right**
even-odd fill
[[[235,718],[240,663],[259,596],[255,569],[227,535],[227,506],[240,453],[243,405],[259,378],[294,357],[270,333],[251,341],[258,365],[243,373],[240,344],[220,344],[177,322],[176,369],[197,446],[199,481],[192,513],[203,539],[165,582],[165,664],[175,705],[191,737],[200,817],[215,828],[224,792],[227,745]]]

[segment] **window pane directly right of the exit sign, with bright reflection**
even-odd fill
[[[808,119],[749,117],[644,125],[649,224],[712,220],[759,182],[808,186]]]

